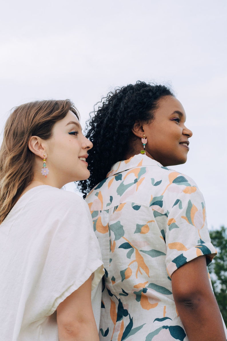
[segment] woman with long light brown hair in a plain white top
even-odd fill
[[[99,245],[87,204],[60,190],[89,177],[91,148],[69,100],[23,104],[5,124],[0,150],[1,340],[99,340]]]

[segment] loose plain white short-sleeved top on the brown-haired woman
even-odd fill
[[[0,225],[0,340],[59,340],[55,310],[92,273],[98,324],[103,264],[87,204],[50,186],[26,192]]]

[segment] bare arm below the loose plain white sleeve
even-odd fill
[[[91,303],[91,277],[57,308],[60,341],[99,341]]]

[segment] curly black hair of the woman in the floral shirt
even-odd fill
[[[164,85],[137,81],[134,85],[116,88],[115,92],[109,92],[106,98],[98,102],[101,105],[98,110],[94,109],[94,116],[86,124],[86,137],[92,141],[93,148],[87,158],[91,176],[78,181],[84,198],[106,178],[114,163],[125,160],[135,121],[151,121],[158,108],[158,100],[167,95],[174,96]]]

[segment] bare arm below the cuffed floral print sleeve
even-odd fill
[[[176,307],[190,341],[226,341],[221,313],[207,274],[206,256],[184,264],[172,275]]]

